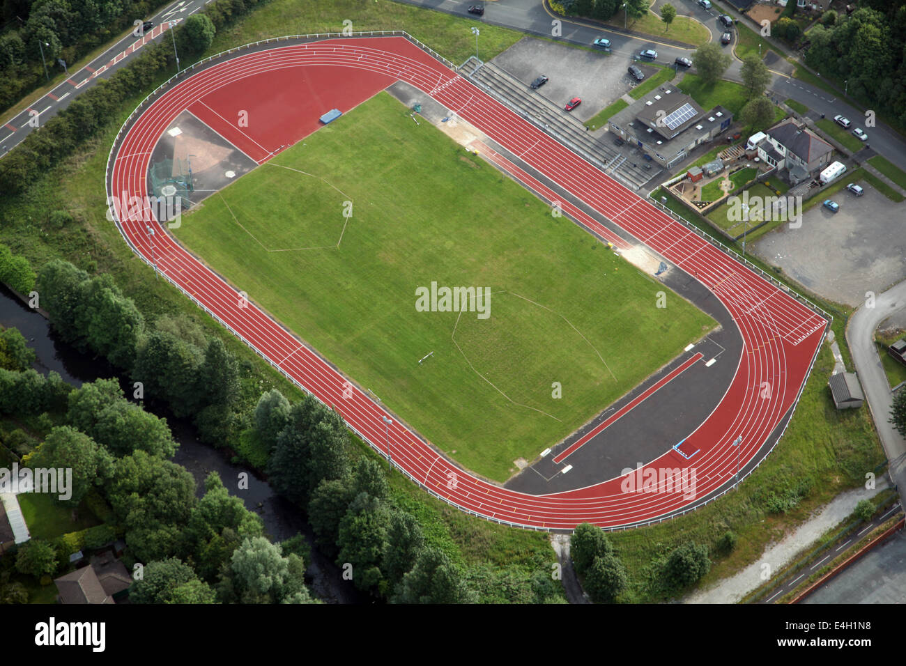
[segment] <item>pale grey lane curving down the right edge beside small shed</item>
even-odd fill
[[[903,308],[906,308],[906,281],[878,295],[874,307],[863,304],[856,310],[846,326],[846,341],[853,355],[859,381],[862,382],[865,400],[872,410],[884,452],[891,461],[891,478],[899,488],[901,501],[906,507],[906,501],[903,501],[903,497],[906,497],[906,439],[888,422],[893,395],[873,341],[878,325]]]

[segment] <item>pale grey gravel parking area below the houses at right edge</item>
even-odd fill
[[[894,204],[868,183],[861,185],[862,197],[845,189],[831,197],[840,204],[838,212],[819,203],[805,213],[802,227],[777,227],[750,246],[815,294],[858,307],[866,292],[880,294],[906,279],[906,203]]]

